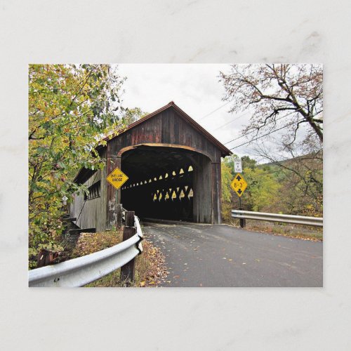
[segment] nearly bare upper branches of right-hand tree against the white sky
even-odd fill
[[[224,100],[233,102],[230,111],[253,112],[243,133],[270,132],[282,119],[284,126],[290,127],[286,145],[295,142],[303,124],[308,127],[307,137],[315,134],[323,142],[322,80],[321,65],[232,65],[229,73],[220,72]]]

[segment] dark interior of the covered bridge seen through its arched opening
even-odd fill
[[[140,218],[198,221],[194,183],[201,158],[207,159],[174,147],[143,145],[124,152],[121,170],[129,179],[121,187],[121,204]]]

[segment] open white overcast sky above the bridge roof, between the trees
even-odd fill
[[[150,113],[174,101],[225,144],[240,136],[239,132],[250,117],[249,112],[228,113],[230,104],[225,105],[226,102],[222,100],[225,91],[223,84],[218,81],[218,75],[220,71],[229,72],[229,67],[216,64],[121,64],[119,72],[127,77],[123,105],[128,108],[140,107]],[[207,114],[210,115],[205,117]],[[225,146],[231,148],[245,141],[241,138]],[[232,151],[239,156],[251,152],[247,147]]]

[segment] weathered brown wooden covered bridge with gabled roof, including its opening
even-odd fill
[[[220,158],[231,152],[173,101],[106,141],[97,148],[106,167],[74,180],[89,189],[70,206],[78,227],[112,227],[117,204],[140,218],[221,223]],[[128,176],[119,190],[106,180],[116,167]]]

